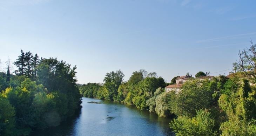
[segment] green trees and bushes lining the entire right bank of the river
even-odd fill
[[[85,97],[123,102],[160,117],[174,117],[170,128],[177,136],[255,136],[256,45],[251,42],[239,57],[233,63],[237,72],[230,78],[191,78],[178,93],[165,92],[164,79],[145,70],[133,72],[127,82],[121,70],[112,71],[106,74],[104,84],[83,84],[79,90]],[[198,72],[197,76],[206,75]]]

